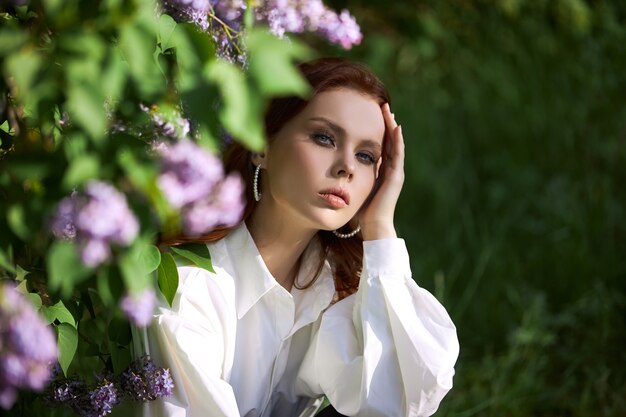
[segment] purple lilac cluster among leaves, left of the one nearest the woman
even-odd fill
[[[58,238],[77,240],[83,263],[96,267],[111,256],[111,245],[129,245],[139,223],[124,194],[113,186],[90,182],[85,192],[72,193],[58,206],[51,225]]]

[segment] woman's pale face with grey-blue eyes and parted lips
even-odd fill
[[[260,204],[303,227],[343,226],[374,187],[384,134],[373,98],[350,89],[317,94],[254,160],[264,168]]]

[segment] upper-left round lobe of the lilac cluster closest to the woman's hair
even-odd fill
[[[189,140],[168,147],[161,157],[158,184],[177,209],[209,196],[224,175],[219,158]]]

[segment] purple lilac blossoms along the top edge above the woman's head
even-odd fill
[[[163,0],[163,11],[179,22],[193,22],[208,32],[217,47],[217,55],[231,62],[245,64],[240,33],[246,2],[243,0]],[[260,0],[255,2],[254,17],[266,24],[271,33],[317,33],[332,43],[350,49],[363,36],[359,25],[347,10],[337,14],[322,0]]]

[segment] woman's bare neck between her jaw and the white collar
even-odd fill
[[[262,206],[259,204],[247,220],[248,231],[267,269],[280,285],[291,291],[298,273],[298,259],[317,230],[298,227],[284,215],[272,216]]]

